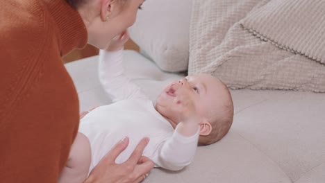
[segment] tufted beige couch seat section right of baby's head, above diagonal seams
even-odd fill
[[[232,130],[278,164],[292,182],[325,162],[325,94],[249,90],[232,94],[235,107],[242,105],[235,111]]]

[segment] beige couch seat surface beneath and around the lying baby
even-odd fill
[[[110,99],[97,78],[97,56],[66,64],[81,110]],[[124,51],[126,74],[154,99],[170,80],[134,51]],[[144,182],[299,182],[324,180],[325,95],[304,92],[232,90],[235,118],[221,141],[199,147],[180,172],[155,168]],[[321,165],[321,166],[319,166]],[[299,177],[301,177],[299,179]]]

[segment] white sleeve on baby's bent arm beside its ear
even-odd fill
[[[180,134],[177,128],[178,126],[172,137],[160,145],[158,157],[155,158],[158,166],[170,171],[179,171],[192,162],[199,140],[199,128],[197,133],[190,137]]]

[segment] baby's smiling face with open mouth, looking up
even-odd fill
[[[208,74],[187,76],[170,83],[163,89],[156,99],[156,110],[172,120],[174,122],[172,125],[176,127],[180,122],[180,112],[188,110],[186,105],[182,105],[183,109],[179,110],[178,101],[186,100],[194,105],[197,116],[208,118],[211,111],[216,111],[221,106],[218,98],[224,94],[222,90],[224,90],[222,82],[213,76]]]

